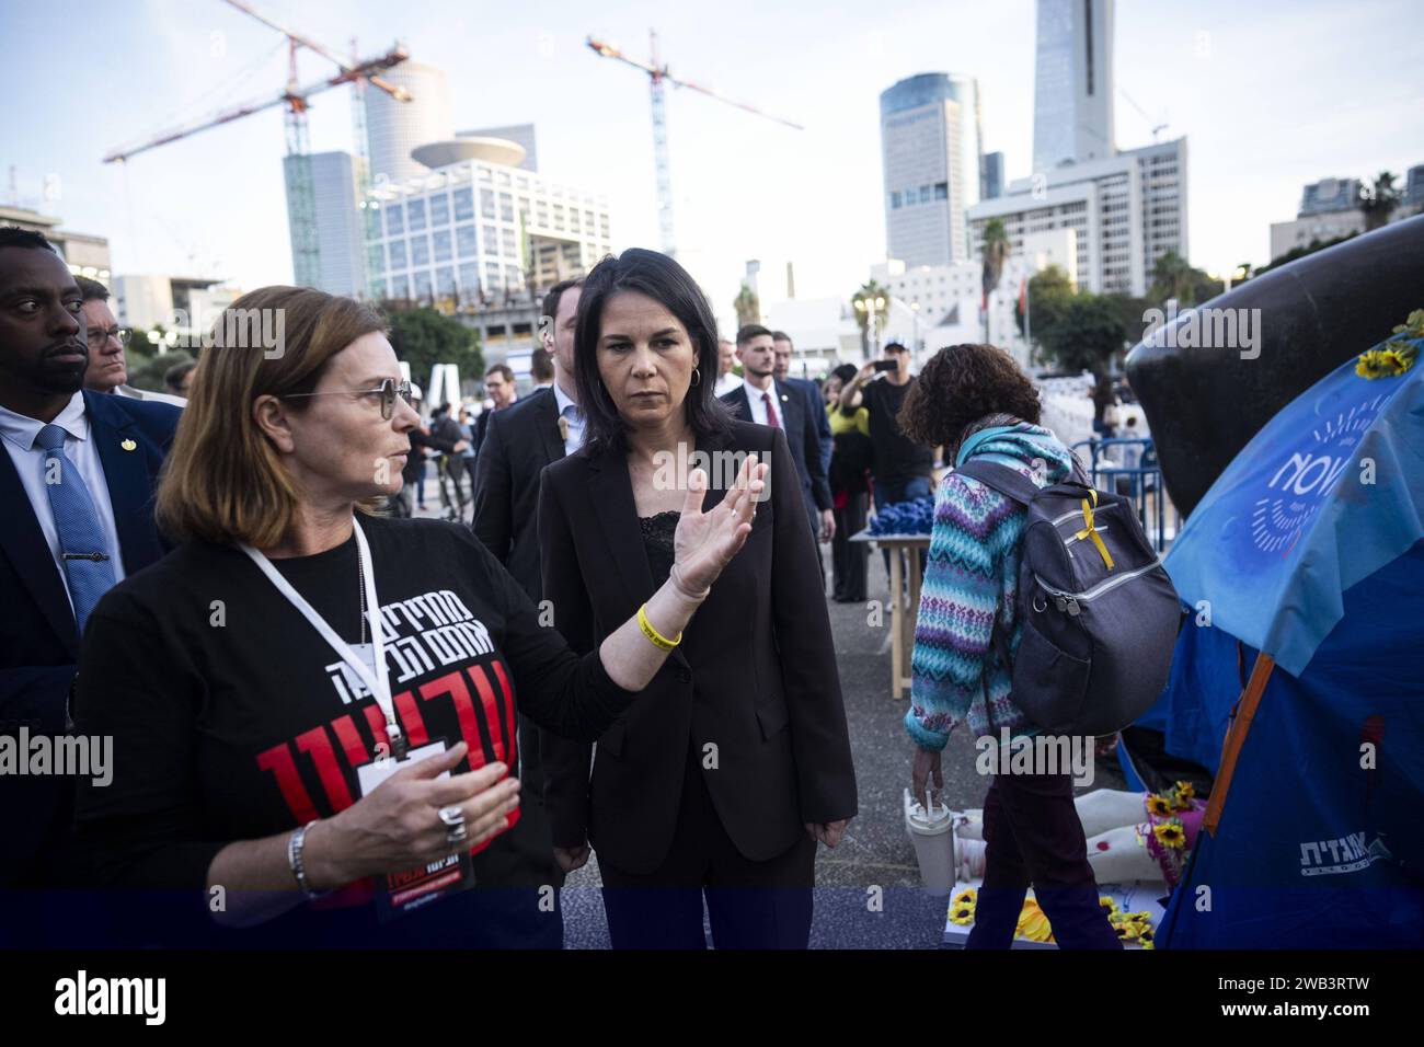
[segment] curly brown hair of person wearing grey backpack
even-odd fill
[[[956,447],[971,422],[1012,415],[1038,423],[1038,390],[1014,358],[993,345],[950,345],[920,370],[900,407],[900,429],[916,443]]]

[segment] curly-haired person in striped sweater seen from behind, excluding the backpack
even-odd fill
[[[956,345],[930,359],[900,412],[911,440],[943,444],[956,469],[970,459],[1007,466],[1042,489],[1082,467],[1038,424],[1038,393],[1002,349]],[[1017,591],[1028,510],[988,484],[947,473],[934,509],[911,661],[906,729],[914,742],[913,789],[943,788],[940,758],[950,732],[968,724],[977,739],[1004,728],[1014,741],[1042,728],[1011,691],[1022,624]],[[995,652],[994,624],[1008,638],[1008,664]],[[1008,761],[998,761],[1007,766]],[[1007,949],[1030,886],[1064,949],[1121,949],[1088,865],[1087,838],[1074,808],[1072,778],[997,773],[984,799],[988,843],[968,949]]]

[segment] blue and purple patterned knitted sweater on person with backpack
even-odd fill
[[[971,449],[1032,479],[1040,487],[1072,474],[1072,453],[1049,430],[1021,422]],[[1037,466],[1037,463],[1042,463]],[[1010,672],[994,660],[984,707],[984,671],[998,608],[1010,652],[1018,651],[1020,538],[1028,510],[977,480],[948,473],[934,504],[934,528],[920,590],[920,617],[910,662],[910,738],[924,749],[943,749],[950,732],[968,721],[975,738],[1035,734],[1010,697]]]

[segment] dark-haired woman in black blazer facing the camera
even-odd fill
[[[665,255],[629,249],[594,268],[575,346],[588,436],[544,470],[538,514],[544,597],[574,650],[669,577],[695,466],[705,507],[748,454],[770,466],[770,496],[592,772],[585,745],[545,754],[555,849],[577,868],[597,848],[614,947],[705,947],[703,890],[718,947],[806,947],[816,842],[840,842],[856,779],[786,437],[716,399],[716,321]]]

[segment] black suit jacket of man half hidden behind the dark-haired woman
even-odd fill
[[[534,520],[540,473],[564,457],[558,400],[551,390],[540,389],[506,410],[486,413],[490,420],[474,463],[471,526],[530,600],[538,603],[543,585]]]

